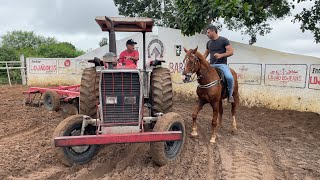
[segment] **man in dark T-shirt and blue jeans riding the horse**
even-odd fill
[[[203,56],[207,58],[210,53],[210,65],[223,71],[229,89],[228,102],[234,103],[232,96],[234,79],[227,65],[227,57],[233,55],[233,48],[227,38],[218,35],[218,29],[214,25],[208,26],[207,36],[210,40],[207,42],[207,48]]]

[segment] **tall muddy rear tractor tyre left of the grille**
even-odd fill
[[[100,74],[95,67],[83,70],[80,85],[80,108],[79,114],[92,118],[97,117],[97,102],[99,102]]]

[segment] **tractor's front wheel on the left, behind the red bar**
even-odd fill
[[[74,115],[64,119],[54,130],[53,138],[60,136],[80,136],[83,115]],[[88,125],[85,135],[95,135],[96,127]],[[99,145],[55,147],[55,156],[66,166],[89,162],[98,152]]]

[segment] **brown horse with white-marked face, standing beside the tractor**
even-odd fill
[[[212,137],[210,139],[210,143],[216,142],[216,129],[219,122],[219,126],[222,127],[222,100],[227,98],[227,89],[226,84],[223,83],[223,78],[218,74],[218,69],[210,66],[209,62],[205,59],[205,57],[197,51],[198,46],[195,49],[187,50],[184,48],[186,52],[184,63],[185,68],[183,70],[182,75],[186,76],[186,81],[190,82],[190,77],[192,74],[196,73],[198,87],[197,87],[197,105],[194,108],[192,113],[192,132],[191,137],[198,136],[197,133],[197,116],[199,111],[203,108],[203,106],[207,103],[210,103],[213,109],[213,117],[212,117]],[[232,126],[233,131],[237,130],[237,122],[236,122],[236,107],[239,104],[239,92],[238,92],[238,80],[237,74],[233,69],[230,69],[232,76],[234,78],[234,103],[231,103],[232,109]],[[219,115],[219,119],[218,119]]]

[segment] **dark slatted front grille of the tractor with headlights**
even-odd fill
[[[138,125],[140,104],[139,73],[114,71],[103,73],[100,85],[104,125]]]

